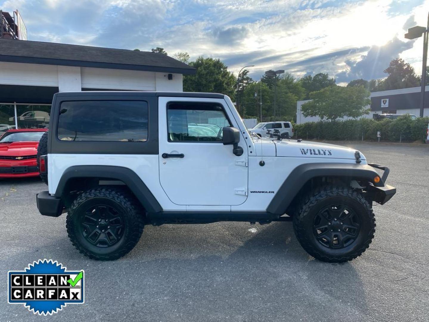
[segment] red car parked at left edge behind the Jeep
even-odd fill
[[[37,146],[48,129],[6,131],[0,137],[0,178],[39,176]]]

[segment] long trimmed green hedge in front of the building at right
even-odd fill
[[[320,121],[294,125],[296,137],[304,140],[366,140],[376,141],[381,131],[381,141],[424,142],[429,117],[412,119],[404,115],[396,120],[376,121],[370,118],[346,121]]]

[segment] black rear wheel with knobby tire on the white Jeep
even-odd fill
[[[125,189],[94,188],[73,201],[67,214],[67,233],[73,245],[92,259],[118,259],[136,246],[144,213]]]

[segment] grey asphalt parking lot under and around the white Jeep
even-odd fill
[[[0,181],[0,321],[429,321],[429,146],[351,144],[390,167],[397,194],[375,206],[377,231],[354,261],[328,264],[291,223],[145,227],[118,261],[79,254],[66,216],[36,208],[39,179]],[[52,258],[85,270],[85,304],[36,316],[7,303],[7,271]]]

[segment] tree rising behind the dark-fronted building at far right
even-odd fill
[[[384,70],[389,74],[384,79],[384,90],[417,87],[420,85],[420,77],[416,75],[414,68],[401,58],[393,59],[389,67]]]

